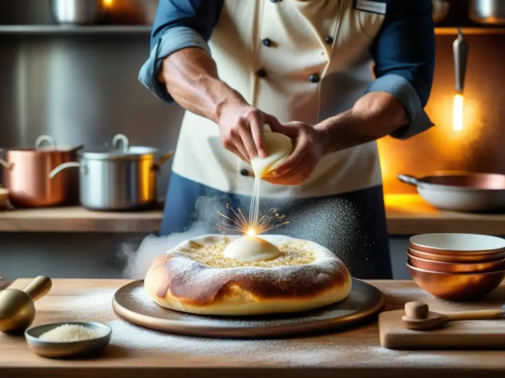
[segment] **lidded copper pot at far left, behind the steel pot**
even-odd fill
[[[42,147],[49,142],[49,147]],[[76,161],[81,147],[58,147],[49,136],[41,136],[35,148],[7,150],[3,166],[9,200],[15,207],[50,207],[79,203],[79,176],[68,170],[56,179],[49,172],[60,164]]]

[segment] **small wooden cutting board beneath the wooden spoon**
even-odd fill
[[[389,349],[505,349],[505,319],[450,322],[437,329],[403,327],[405,310],[379,314],[380,344]]]

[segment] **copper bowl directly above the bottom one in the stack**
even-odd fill
[[[446,263],[443,261],[433,261],[420,259],[412,256],[407,251],[408,263],[414,268],[430,270],[440,273],[483,273],[505,270],[505,259],[488,261],[484,263]]]

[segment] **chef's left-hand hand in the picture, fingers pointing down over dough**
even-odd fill
[[[267,156],[263,126],[281,127],[273,115],[247,103],[225,105],[219,117],[219,137],[223,146],[249,163],[250,159]]]

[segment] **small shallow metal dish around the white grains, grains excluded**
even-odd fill
[[[76,324],[92,328],[102,333],[96,339],[73,341],[73,342],[52,342],[41,341],[39,336],[44,332],[50,331],[56,327],[63,326],[64,324]],[[49,358],[71,358],[71,357],[86,357],[102,352],[109,342],[111,341],[112,330],[109,326],[101,323],[93,322],[60,322],[44,324],[29,328],[25,331],[25,338],[28,347],[36,354],[42,357]]]

